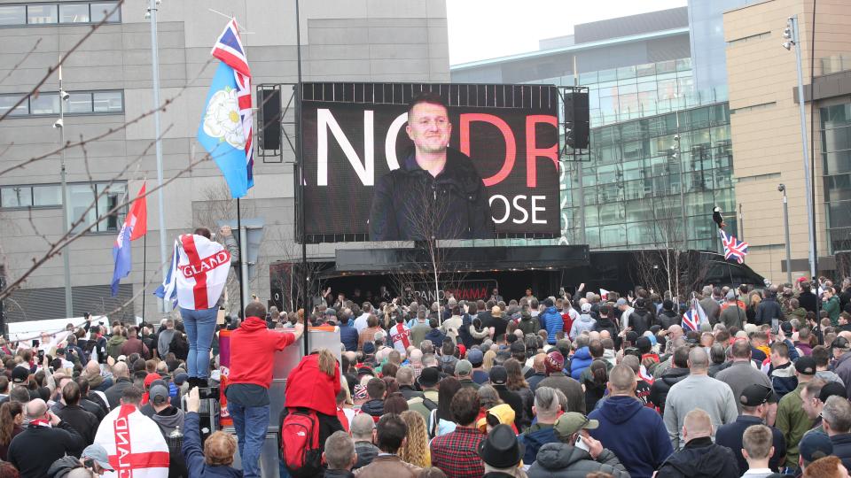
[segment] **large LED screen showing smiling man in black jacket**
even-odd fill
[[[558,235],[557,107],[549,85],[306,83],[308,238]]]

